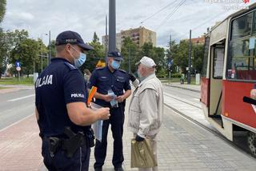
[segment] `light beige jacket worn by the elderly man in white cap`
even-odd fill
[[[155,74],[143,80],[130,101],[128,128],[140,137],[154,136],[162,124],[162,83]]]

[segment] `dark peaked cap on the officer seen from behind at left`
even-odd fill
[[[90,45],[87,45],[83,42],[80,34],[74,31],[63,31],[62,33],[58,34],[55,42],[55,46],[59,45],[66,45],[66,44],[78,45],[83,50],[94,50],[94,48]]]

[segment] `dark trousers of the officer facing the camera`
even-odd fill
[[[100,168],[104,165],[106,159],[106,147],[107,147],[107,133],[109,126],[111,125],[111,131],[114,138],[114,152],[112,157],[112,164],[114,167],[122,167],[124,161],[122,153],[122,133],[124,116],[124,103],[118,104],[118,108],[110,109],[110,119],[103,121],[102,125],[102,142],[96,140],[94,149],[94,157],[96,162],[94,168]]]

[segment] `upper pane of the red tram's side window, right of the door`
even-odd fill
[[[232,36],[231,40],[242,38],[250,35],[252,27],[253,14],[246,14],[241,18],[237,18],[232,22]]]

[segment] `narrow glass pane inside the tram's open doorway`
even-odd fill
[[[224,48],[214,49],[214,78],[222,79],[224,66]]]

